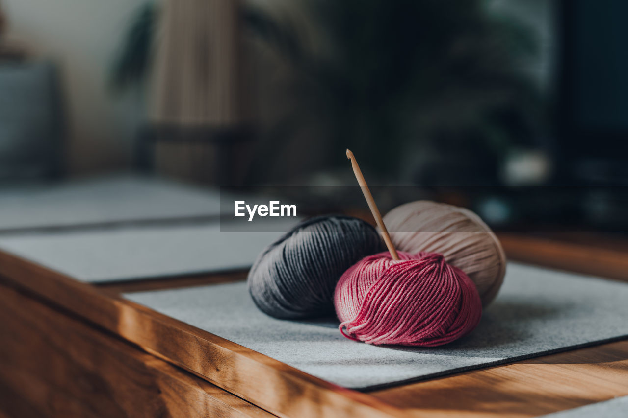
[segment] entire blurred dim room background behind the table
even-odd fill
[[[350,148],[382,212],[427,197],[497,229],[624,233],[627,13],[622,0],[0,0],[0,181],[354,185]],[[341,187],[291,190],[364,207]]]

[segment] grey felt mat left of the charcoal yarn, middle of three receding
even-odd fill
[[[257,254],[280,235],[220,233],[217,222],[127,226],[0,236],[0,248],[94,283],[249,268]]]

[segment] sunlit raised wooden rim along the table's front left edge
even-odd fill
[[[5,251],[0,251],[0,276],[280,417],[404,416],[401,409],[370,395]]]

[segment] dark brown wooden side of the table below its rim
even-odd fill
[[[274,416],[6,285],[0,335],[0,409],[13,417]]]

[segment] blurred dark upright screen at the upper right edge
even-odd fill
[[[561,153],[573,180],[625,184],[628,160],[628,3],[570,0],[562,29]]]

